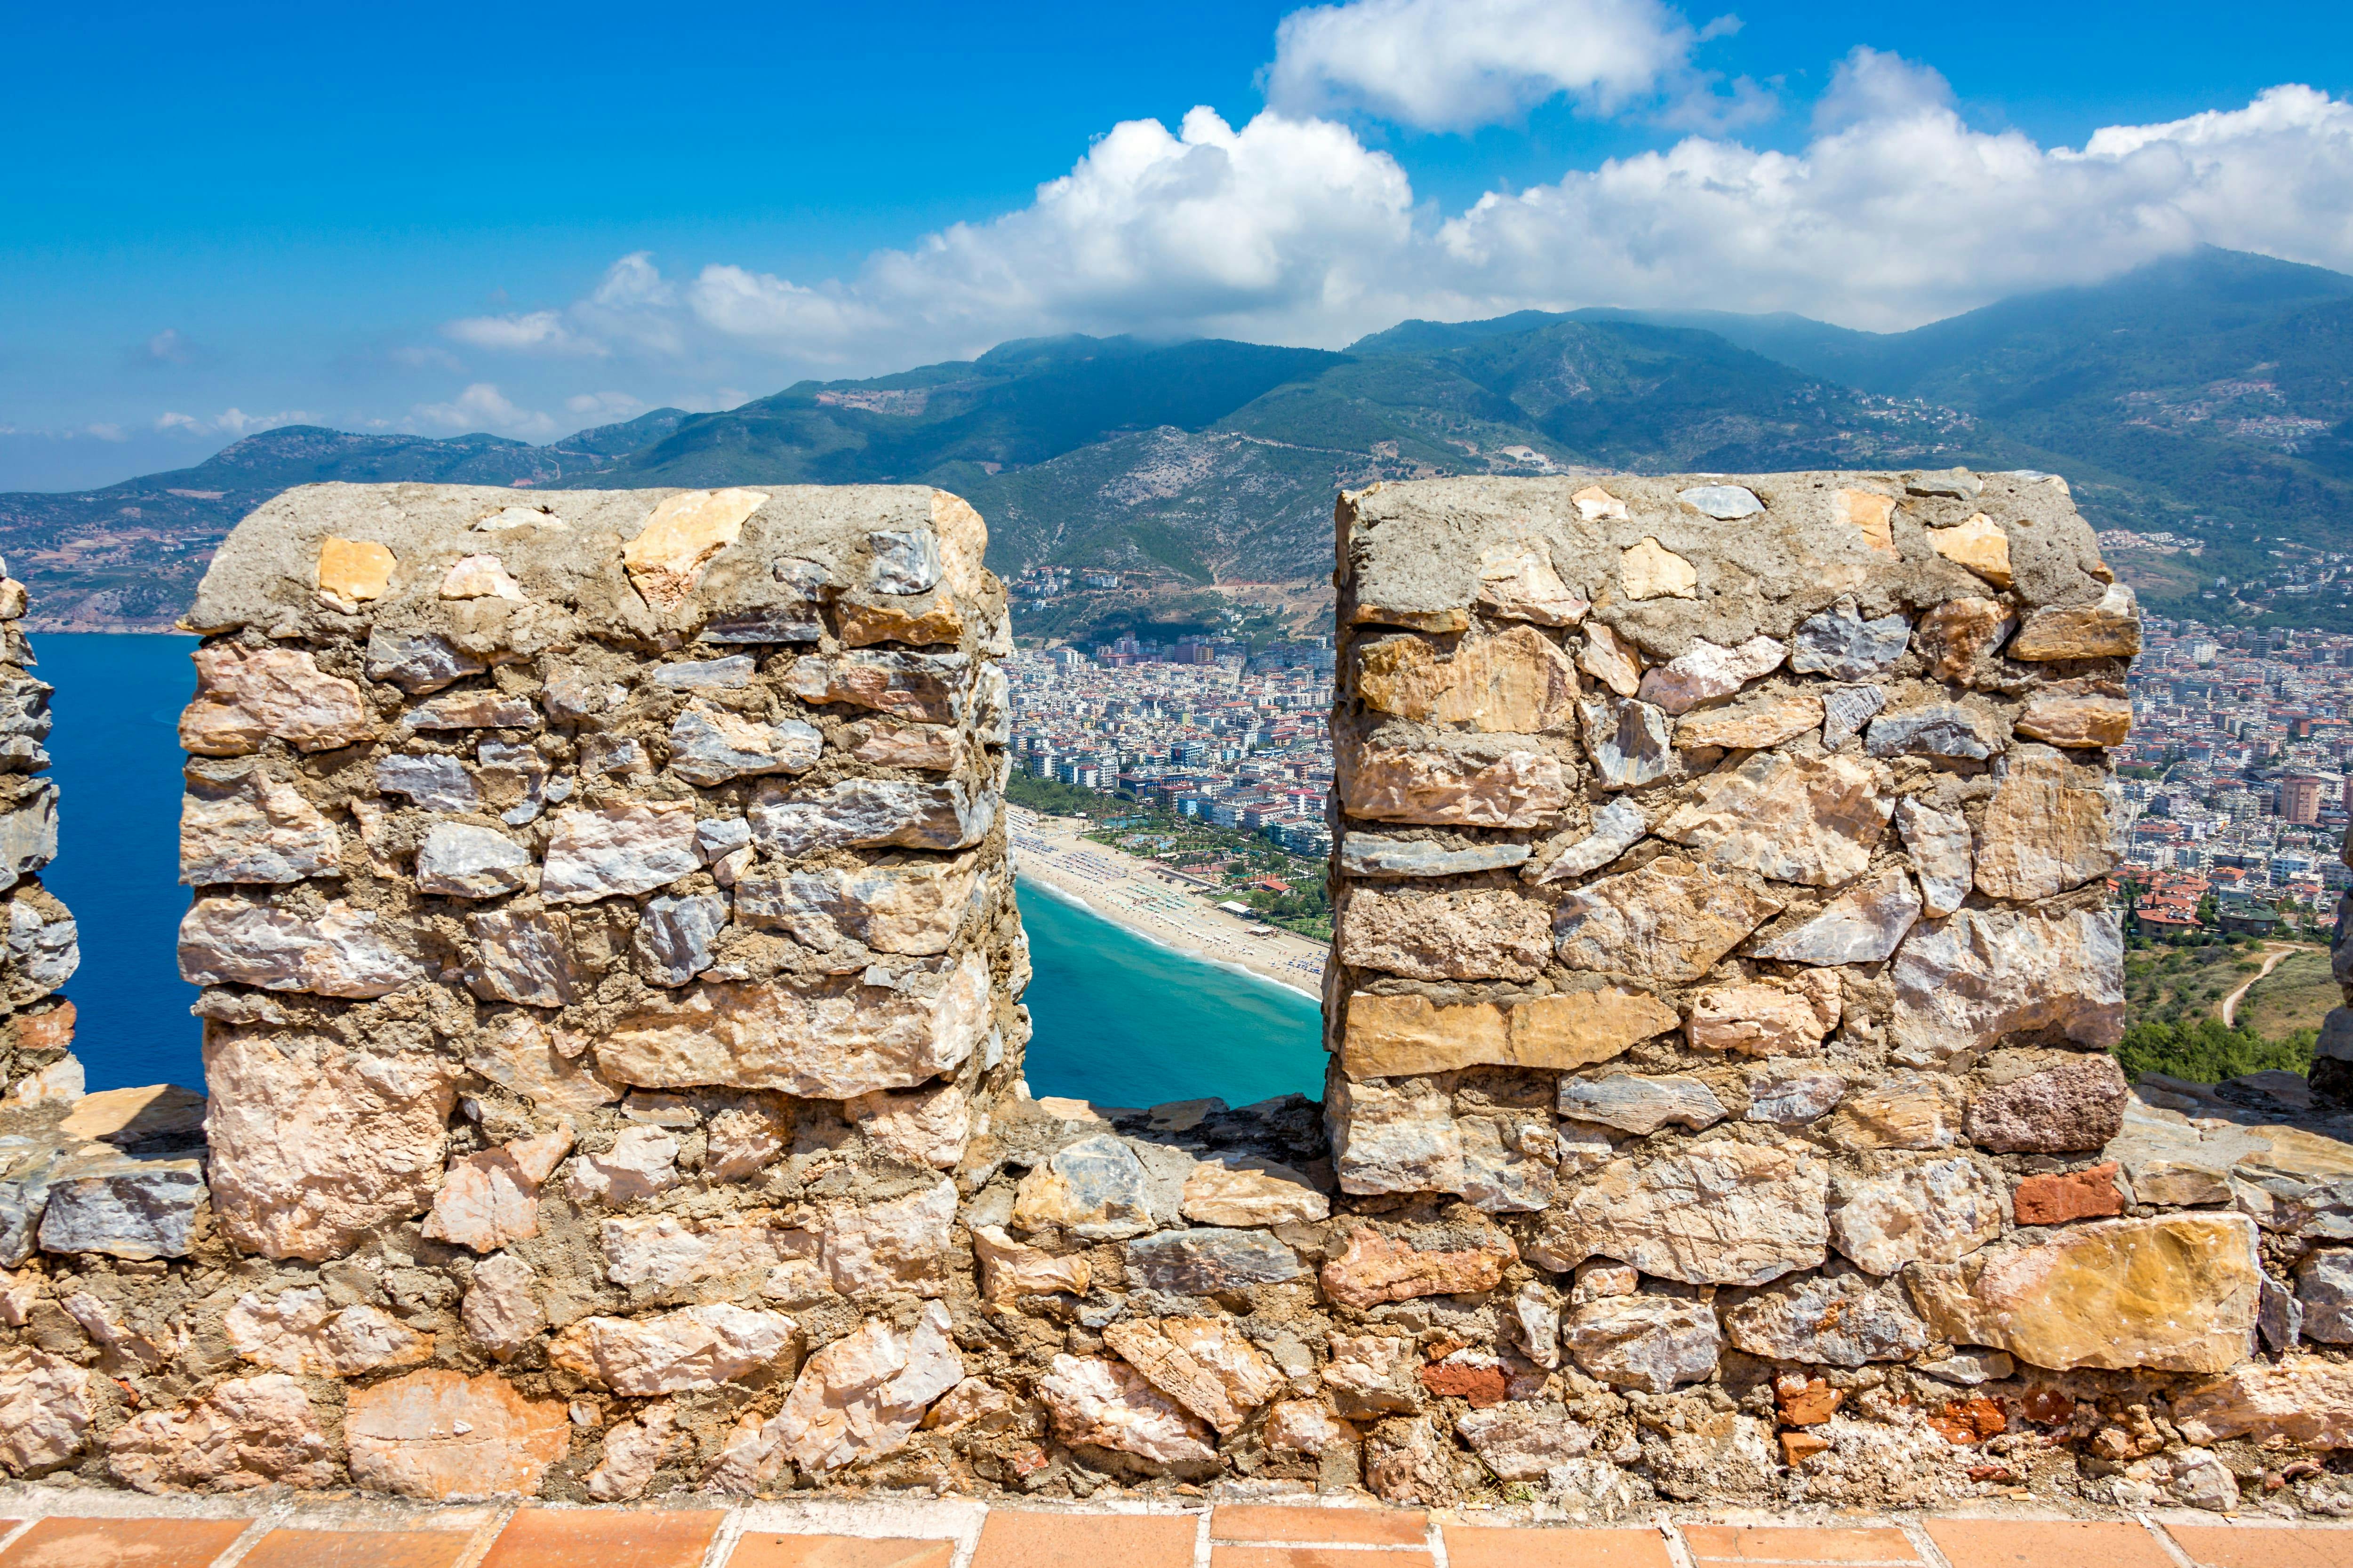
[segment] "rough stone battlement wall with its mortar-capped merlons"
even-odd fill
[[[209,1098],[80,1095],[9,893],[0,1467],[2353,1512],[2344,1126],[2108,1056],[2139,618],[2061,482],[1344,496],[1320,1107],[1021,1084],[984,545],[925,487],[245,520]]]

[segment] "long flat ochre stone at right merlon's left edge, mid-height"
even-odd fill
[[[1348,997],[1341,1067],[1353,1079],[1457,1067],[1588,1067],[1673,1030],[1675,1023],[1675,1009],[1649,992],[1617,985],[1513,1006],[1442,1006],[1428,997],[1355,992]]]

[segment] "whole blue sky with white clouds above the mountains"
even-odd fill
[[[7,38],[0,489],[287,418],[548,440],[1035,331],[1887,329],[2195,242],[2353,270],[2341,5],[12,5]]]

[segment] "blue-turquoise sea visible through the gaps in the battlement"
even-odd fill
[[[49,701],[59,853],[42,882],[73,910],[82,969],[75,1053],[92,1088],[202,1086],[195,987],[179,978],[179,710],[193,637],[33,637]],[[1160,947],[1021,884],[1038,978],[1024,1001],[1035,1095],[1160,1105],[1217,1095],[1247,1105],[1322,1093],[1315,1001],[1273,980]]]

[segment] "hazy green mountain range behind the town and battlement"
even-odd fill
[[[929,482],[988,517],[1007,576],[1122,574],[1115,595],[1031,607],[1024,630],[1075,635],[1221,602],[1308,616],[1332,491],[1377,477],[1969,463],[2066,475],[2094,527],[2151,538],[2111,548],[2155,609],[2219,616],[2235,607],[2209,578],[2348,548],[2348,339],[2353,277],[2219,249],[1899,334],[1527,310],[1400,322],[1341,353],[1028,339],[546,447],[285,425],[96,491],[0,494],[0,550],[35,625],[160,628],[228,527],[292,484]]]

